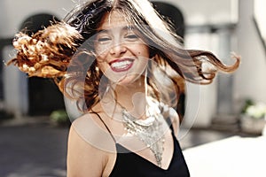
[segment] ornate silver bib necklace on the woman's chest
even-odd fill
[[[131,135],[136,135],[139,140],[145,143],[146,147],[152,150],[157,165],[161,166],[161,157],[164,150],[164,118],[160,112],[153,112],[147,119],[137,119],[122,107],[122,123]]]

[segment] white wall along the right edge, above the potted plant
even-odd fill
[[[266,103],[266,55],[254,26],[253,15],[254,1],[239,1],[240,18],[236,35],[242,62],[236,73],[234,90],[239,103],[245,98]]]

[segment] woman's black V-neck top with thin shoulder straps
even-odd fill
[[[98,115],[99,117],[99,115]],[[101,119],[99,117],[99,119]],[[102,119],[101,119],[102,120]],[[168,119],[169,120],[169,119]],[[102,120],[104,125],[106,123]],[[110,135],[113,137],[111,131],[106,126]],[[110,177],[189,177],[190,173],[188,167],[185,163],[182,150],[180,148],[179,142],[174,135],[173,127],[170,126],[172,130],[172,137],[174,140],[174,153],[171,159],[168,169],[164,170],[152,162],[142,158],[136,153],[126,149],[121,144],[115,142],[117,153],[116,161],[113,166],[113,171],[110,173]],[[123,153],[127,152],[127,153]]]

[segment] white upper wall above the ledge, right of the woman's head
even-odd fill
[[[238,21],[239,0],[153,0],[176,5],[188,26],[228,24]]]

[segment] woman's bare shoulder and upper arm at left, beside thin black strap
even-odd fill
[[[82,115],[69,129],[67,176],[102,176],[106,168],[109,152],[98,143],[105,140],[99,139],[101,128],[93,121],[94,116],[91,113]]]

